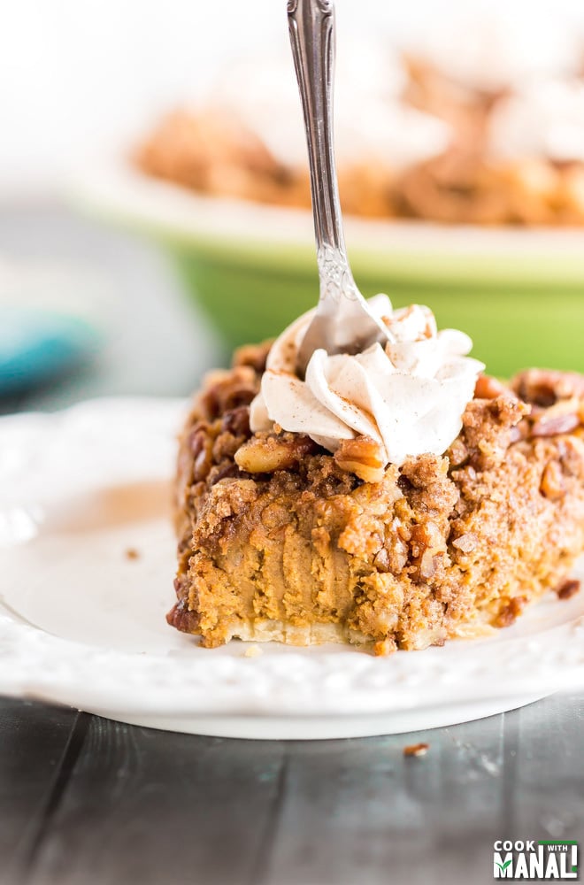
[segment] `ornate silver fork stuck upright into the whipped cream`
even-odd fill
[[[288,29],[308,142],[320,278],[317,312],[296,358],[297,372],[304,378],[315,350],[357,353],[373,342],[387,341],[389,335],[357,289],[342,234],[334,163],[332,0],[288,0]]]

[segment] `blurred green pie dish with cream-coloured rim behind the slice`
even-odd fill
[[[149,236],[229,348],[278,335],[318,299],[310,212],[189,194],[119,169],[84,181],[93,212]],[[488,372],[584,372],[584,231],[346,219],[357,285],[427,304]]]

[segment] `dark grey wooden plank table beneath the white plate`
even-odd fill
[[[4,411],[181,395],[210,365],[203,320],[144,245],[57,205],[0,208],[0,242],[105,268],[117,292],[96,364]],[[404,758],[421,740],[427,755]],[[584,847],[584,692],[423,734],[305,743],[0,699],[3,885],[480,885],[496,839]]]

